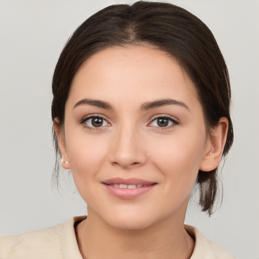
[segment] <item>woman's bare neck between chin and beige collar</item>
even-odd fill
[[[184,222],[171,217],[145,229],[124,230],[108,225],[92,211],[77,225],[76,234],[84,259],[190,258],[194,241]]]

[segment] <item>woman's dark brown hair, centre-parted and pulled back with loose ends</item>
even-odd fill
[[[231,90],[228,70],[209,28],[196,16],[175,5],[137,2],[132,6],[113,5],[84,21],[67,41],[53,75],[52,119],[64,123],[70,85],[82,63],[91,55],[112,46],[152,45],[174,57],[193,80],[203,107],[207,128],[221,117],[229,120],[226,156],[233,143],[230,118]],[[56,148],[54,179],[58,179],[60,150]],[[217,196],[217,168],[199,171],[199,204],[210,215]]]

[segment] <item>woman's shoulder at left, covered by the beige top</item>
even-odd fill
[[[78,248],[74,232],[78,218],[54,227],[0,237],[0,258],[63,258],[63,250],[69,252]]]

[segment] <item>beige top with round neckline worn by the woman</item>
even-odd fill
[[[0,237],[0,259],[82,259],[74,225],[84,219],[85,216],[74,217],[54,227]],[[190,259],[235,259],[196,228],[185,225],[185,229],[195,239]]]

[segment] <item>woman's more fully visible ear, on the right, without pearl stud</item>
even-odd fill
[[[205,154],[200,163],[200,170],[211,171],[220,164],[227,139],[228,125],[228,119],[221,117],[218,125],[211,130]]]

